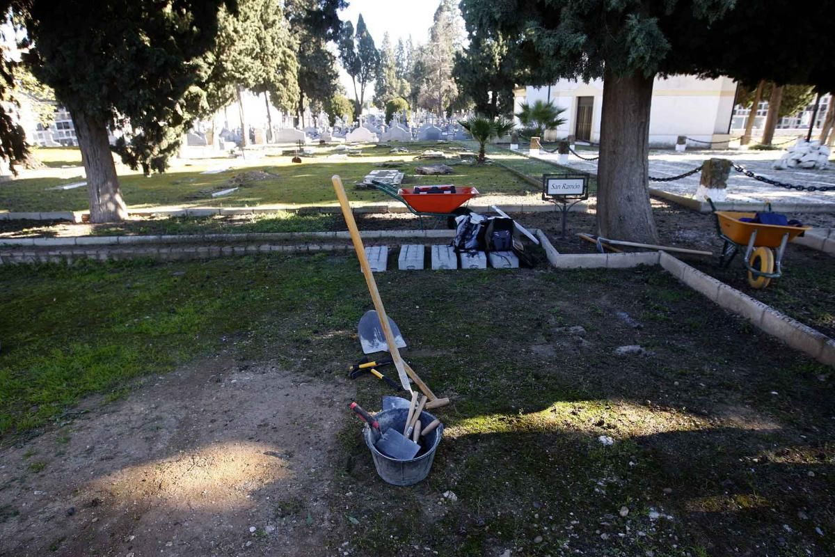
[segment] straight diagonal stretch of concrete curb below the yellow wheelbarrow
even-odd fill
[[[736,288],[727,286],[724,282],[698,271],[676,257],[661,252],[659,262],[665,271],[727,311],[745,317],[763,332],[777,337],[788,346],[808,354],[818,362],[835,367],[835,340],[822,332],[803,325],[775,310],[772,306],[743,294]]]

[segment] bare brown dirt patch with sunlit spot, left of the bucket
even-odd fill
[[[0,555],[318,553],[352,386],[223,358],[145,383],[0,451]]]

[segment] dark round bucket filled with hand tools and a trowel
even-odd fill
[[[388,428],[395,428],[402,432],[403,426],[406,425],[408,413],[409,411],[405,408],[392,408],[375,414],[374,418],[380,423],[382,432],[385,432]],[[434,419],[435,417],[432,414],[422,412],[420,415],[421,428],[428,426]],[[374,447],[371,429],[368,427],[363,429],[362,434],[365,436],[368,448],[371,449],[374,467],[377,468],[380,478],[392,485],[414,485],[426,478],[429,469],[432,468],[435,449],[438,448],[438,443],[441,443],[441,437],[443,436],[443,423],[423,438],[423,447],[427,447],[426,451],[411,460],[397,460],[378,451]]]

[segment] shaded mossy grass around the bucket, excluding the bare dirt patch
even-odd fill
[[[130,397],[143,388],[132,378],[220,349],[240,362],[269,357],[303,382],[343,376],[370,306],[357,267],[322,254],[0,268],[2,438],[63,422],[94,393]],[[447,429],[433,471],[411,489],[377,479],[345,412],[339,448],[320,464],[327,509],[301,499],[285,511],[301,528],[328,512],[323,552],[835,550],[831,369],[658,269],[390,271],[378,281],[412,367],[454,403],[438,411]],[[631,344],[649,353],[615,356]],[[355,384],[369,409],[389,393]],[[32,473],[48,471],[50,457],[37,458]],[[441,497],[448,490],[456,501]]]

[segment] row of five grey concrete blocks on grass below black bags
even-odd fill
[[[368,246],[366,249],[368,265],[374,272],[383,272],[388,268],[388,246]],[[433,271],[458,269],[487,269],[488,262],[494,269],[518,269],[519,258],[513,251],[473,251],[456,253],[453,246],[429,246]],[[397,256],[397,269],[400,271],[422,271],[425,265],[426,246],[423,244],[403,244]]]

